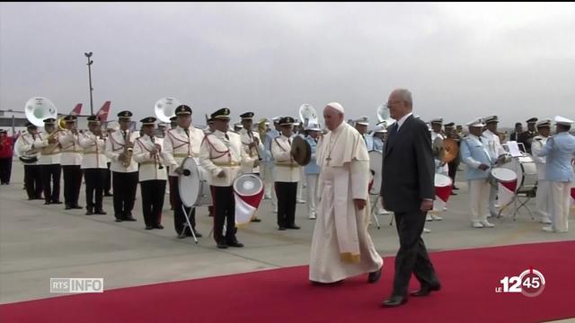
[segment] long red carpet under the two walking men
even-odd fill
[[[358,276],[343,284],[308,283],[307,266],[154,284],[0,306],[2,322],[538,322],[575,317],[575,241],[436,252],[440,292],[396,309],[394,258],[377,284]],[[545,277],[537,297],[496,293],[505,276],[534,266]],[[104,282],[105,283],[105,282]],[[45,285],[46,287],[48,284]],[[412,289],[418,287],[411,280]],[[39,288],[44,288],[39,286]]]

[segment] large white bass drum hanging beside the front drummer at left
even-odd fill
[[[181,163],[183,174],[178,180],[181,203],[186,207],[212,205],[208,170],[199,166],[199,160],[186,157]]]

